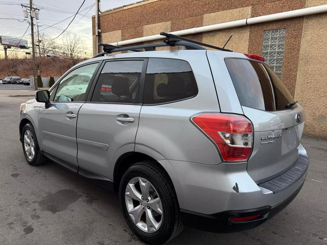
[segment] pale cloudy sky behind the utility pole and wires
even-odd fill
[[[122,6],[124,4],[134,3],[136,0],[102,0],[101,10],[105,11],[110,8]],[[33,0],[34,7],[40,9],[39,32],[49,35],[51,38],[57,37],[64,30],[69,21],[74,17],[74,14],[82,4],[83,0]],[[24,20],[23,10],[20,4],[29,5],[28,0],[0,0],[0,36],[11,36],[21,38],[27,30],[23,39],[31,41],[31,29],[29,24]],[[79,14],[75,17],[66,32],[76,34],[85,42],[85,52],[87,56],[92,53],[92,21],[91,16],[95,14],[95,0],[85,0]],[[15,18],[15,19],[7,19]],[[19,22],[18,20],[21,20]],[[63,21],[62,21],[63,20]],[[59,21],[62,21],[58,23]],[[54,25],[55,24],[55,25]],[[49,27],[52,26],[53,27]],[[56,39],[60,45],[62,36]],[[8,54],[12,50],[8,50]],[[25,56],[25,50],[18,50],[16,55],[19,57]],[[3,47],[0,45],[0,57],[4,57]]]

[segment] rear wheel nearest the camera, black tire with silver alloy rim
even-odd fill
[[[162,244],[183,229],[173,185],[154,161],[131,165],[119,188],[127,224],[144,242]]]

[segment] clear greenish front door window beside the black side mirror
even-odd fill
[[[69,72],[60,81],[54,102],[84,102],[87,87],[98,64],[84,65]]]

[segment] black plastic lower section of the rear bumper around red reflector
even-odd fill
[[[234,210],[225,211],[221,213],[215,213],[210,215],[200,214],[187,210],[180,210],[183,223],[187,227],[195,228],[202,231],[218,232],[218,233],[230,233],[249,230],[255,228],[264,223],[269,218],[282,211],[288,204],[290,204],[296,195],[301,190],[303,184],[286,200],[274,207],[266,206],[248,210]],[[248,222],[233,223],[230,218],[233,215],[250,216],[259,215],[258,219]]]

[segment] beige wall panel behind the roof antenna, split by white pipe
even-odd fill
[[[209,24],[223,23],[233,20],[245,19],[249,16],[251,7],[238,8],[209,13],[203,15],[203,26]],[[214,32],[203,33],[202,40],[205,43],[212,45],[223,46],[226,40],[233,35],[229,40],[226,48],[240,53],[247,53],[249,45],[250,27],[239,27],[233,29],[225,29]]]

